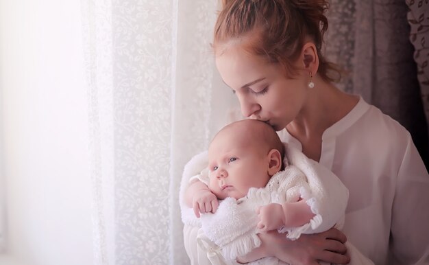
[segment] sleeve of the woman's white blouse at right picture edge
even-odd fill
[[[391,262],[429,264],[429,174],[408,135],[392,205]]]

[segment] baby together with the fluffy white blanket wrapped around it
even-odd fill
[[[204,163],[208,170],[186,176],[194,164],[201,170]],[[258,233],[277,229],[295,240],[341,223],[348,192],[340,181],[325,183],[335,187],[331,190],[337,198],[327,202],[321,179],[326,181],[328,174],[333,175],[299,150],[285,147],[268,124],[234,122],[215,135],[207,155],[186,165],[184,205],[195,220],[183,206],[182,220],[201,226],[204,233],[197,236],[197,244],[212,264],[284,264],[281,257],[265,257]],[[352,244],[346,246],[351,264],[372,264]]]

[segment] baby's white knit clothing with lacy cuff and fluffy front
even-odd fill
[[[344,189],[344,187],[341,187]],[[321,189],[315,189],[315,193]],[[222,250],[223,257],[235,260],[236,257],[246,255],[252,249],[260,246],[260,239],[256,235],[258,216],[255,211],[262,205],[269,203],[295,203],[299,198],[307,200],[308,205],[316,215],[307,224],[293,229],[280,229],[290,239],[299,238],[301,233],[312,233],[319,228],[322,220],[332,220],[335,216],[342,218],[347,201],[347,192],[339,189],[339,207],[330,207],[330,218],[322,218],[319,214],[319,205],[323,202],[323,194],[312,194],[306,176],[295,166],[289,165],[285,170],[271,177],[266,187],[249,189],[246,197],[238,200],[226,198],[219,204],[215,214],[201,215],[201,228],[206,236]],[[344,197],[341,197],[344,196]],[[319,200],[321,198],[321,200]],[[337,219],[339,220],[339,219]],[[333,227],[334,223],[325,224]]]

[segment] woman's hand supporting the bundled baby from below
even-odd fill
[[[289,240],[277,231],[259,233],[262,245],[268,256],[275,256],[289,264],[317,265],[319,261],[347,264],[350,257],[344,243],[345,235],[331,228],[322,233],[302,234],[297,240]]]

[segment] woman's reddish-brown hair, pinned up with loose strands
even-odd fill
[[[293,77],[301,49],[310,37],[319,56],[319,75],[335,82],[339,67],[321,54],[323,34],[328,29],[327,0],[221,0],[215,25],[213,48],[222,52],[229,41],[240,41],[245,51],[279,63]]]

